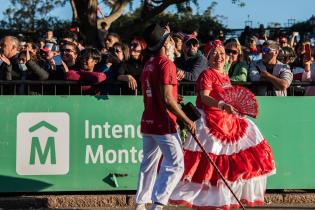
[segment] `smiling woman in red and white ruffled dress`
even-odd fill
[[[225,51],[215,41],[209,69],[197,80],[197,137],[237,197],[249,206],[263,205],[267,176],[275,173],[272,150],[257,126],[224,103],[220,93],[231,87],[224,74]],[[194,209],[230,209],[239,205],[192,136],[184,145],[185,172],[171,203]]]

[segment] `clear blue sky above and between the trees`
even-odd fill
[[[223,15],[222,24],[231,29],[244,28],[245,21],[252,21],[252,27],[259,24],[267,26],[270,22],[281,23],[282,26],[288,23],[289,19],[296,22],[305,21],[312,15],[315,16],[314,0],[243,0],[245,7],[239,7],[231,3],[231,0],[217,0],[214,15]],[[139,0],[134,1],[134,8]],[[198,0],[199,13],[202,13],[211,3],[211,0]],[[9,0],[0,0],[0,19],[3,18],[3,11],[10,6]],[[128,8],[127,8],[128,9]],[[175,7],[168,8],[169,12],[176,12]],[[106,9],[104,9],[106,14]],[[69,3],[64,8],[55,9],[52,15],[62,19],[71,20],[72,11]]]

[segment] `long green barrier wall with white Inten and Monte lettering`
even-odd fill
[[[315,189],[315,98],[258,100],[277,166],[268,188]],[[0,192],[136,189],[142,97],[1,96],[0,110]]]

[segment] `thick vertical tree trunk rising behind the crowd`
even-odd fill
[[[86,38],[85,44],[97,47],[97,0],[74,0],[74,3],[80,32]]]

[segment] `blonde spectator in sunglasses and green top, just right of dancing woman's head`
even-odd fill
[[[244,62],[242,46],[236,39],[231,39],[225,44],[227,55],[224,73],[229,75],[231,81],[246,82],[248,64]]]

